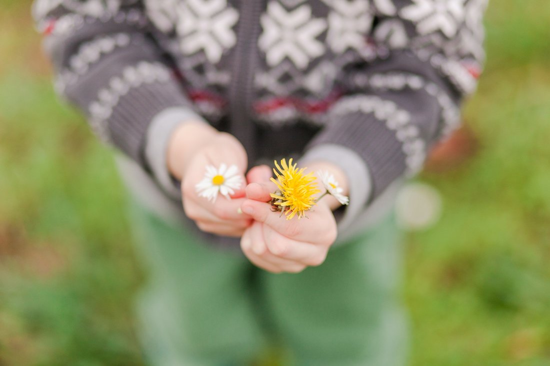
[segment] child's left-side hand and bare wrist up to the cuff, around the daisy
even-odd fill
[[[216,201],[211,202],[199,197],[195,185],[204,178],[206,166],[219,168],[222,163],[237,165],[238,174],[243,176],[243,186],[232,199],[218,195]],[[168,149],[168,167],[182,181],[185,214],[202,231],[217,235],[239,237],[252,223],[251,217],[240,211],[245,200],[246,165],[246,152],[237,138],[205,124],[190,123],[179,127]]]

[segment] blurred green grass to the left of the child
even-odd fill
[[[27,13],[0,17],[0,365],[140,365],[125,193],[54,96]]]

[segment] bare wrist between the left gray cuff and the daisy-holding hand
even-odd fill
[[[182,180],[185,169],[195,153],[218,134],[214,127],[201,121],[182,123],[174,130],[168,142],[168,171],[175,178]]]

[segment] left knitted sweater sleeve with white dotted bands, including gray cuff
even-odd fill
[[[32,11],[58,94],[86,115],[102,141],[178,197],[166,167],[168,139],[180,123],[202,119],[151,36],[142,2],[36,0]]]

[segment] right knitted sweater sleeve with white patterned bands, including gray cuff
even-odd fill
[[[422,168],[434,142],[459,125],[484,59],[486,0],[373,3],[368,47],[344,70],[343,96],[303,157],[333,162],[348,176],[342,223]]]

